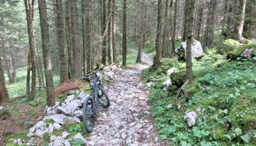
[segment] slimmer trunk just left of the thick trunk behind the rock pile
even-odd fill
[[[33,100],[35,98],[35,85],[36,85],[36,71],[35,71],[35,59],[34,59],[34,41],[33,41],[33,33],[32,33],[32,27],[34,22],[34,0],[32,0],[31,4],[27,2],[27,0],[24,0],[25,2],[25,8],[26,8],[26,25],[27,25],[27,33],[28,33],[28,40],[29,40],[29,58],[28,58],[28,64],[31,62],[31,68],[30,65],[28,65],[27,69],[27,77],[26,77],[26,98],[28,100]],[[31,91],[30,91],[30,70],[32,71],[32,77],[31,77]]]

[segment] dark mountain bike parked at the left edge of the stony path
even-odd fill
[[[102,88],[102,81],[97,75],[97,72],[101,69],[97,69],[91,74],[88,74],[85,77],[82,77],[82,80],[87,81],[90,84],[91,95],[85,99],[83,103],[83,122],[84,127],[87,129],[87,132],[92,132],[95,126],[96,115],[99,111],[99,103],[102,107],[108,108],[110,106],[109,96],[106,91]],[[94,83],[91,84],[91,77],[93,76]]]

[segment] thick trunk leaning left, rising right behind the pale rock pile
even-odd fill
[[[47,93],[47,105],[55,105],[55,95],[54,95],[54,84],[52,67],[50,60],[50,46],[49,46],[49,26],[47,17],[46,2],[38,0],[39,14],[41,22],[41,44],[42,44],[42,54],[44,61],[44,71],[46,79],[46,93]]]

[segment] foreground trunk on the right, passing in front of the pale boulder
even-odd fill
[[[193,28],[193,10],[195,0],[186,0],[188,14],[187,14],[187,47],[186,47],[186,77],[192,81],[192,28]]]

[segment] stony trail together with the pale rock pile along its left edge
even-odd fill
[[[111,79],[104,86],[109,95],[110,106],[107,109],[100,108],[94,130],[87,137],[79,132],[73,133],[67,127],[79,125],[82,120],[82,103],[89,96],[84,91],[72,91],[72,95],[63,102],[56,102],[55,106],[45,108],[44,115],[34,127],[29,128],[27,138],[16,137],[8,142],[18,145],[43,145],[43,142],[49,142],[48,145],[52,146],[70,146],[79,141],[89,146],[169,145],[167,141],[158,138],[149,112],[149,92],[141,81],[142,69],[148,68],[153,61],[145,54],[142,58],[144,63],[125,69],[115,65],[111,70],[103,72],[102,77]]]

